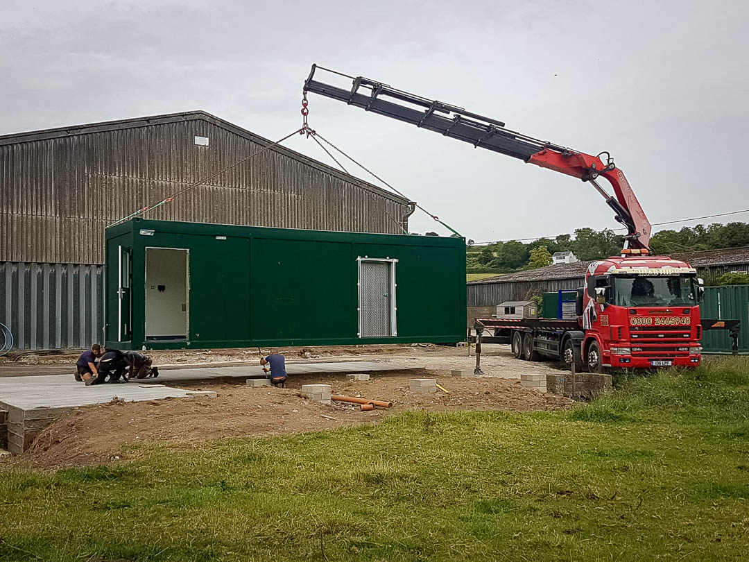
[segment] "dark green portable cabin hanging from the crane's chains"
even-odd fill
[[[106,229],[108,348],[465,339],[465,241],[130,220]]]

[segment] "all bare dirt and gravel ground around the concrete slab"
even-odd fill
[[[265,351],[265,350],[264,350]],[[520,385],[522,372],[558,372],[554,363],[526,363],[516,360],[504,345],[485,346],[482,378],[454,378],[452,369],[473,369],[476,357],[467,348],[443,346],[382,346],[375,348],[315,348],[286,351],[289,362],[315,360],[387,361],[419,370],[383,372],[369,381],[348,381],[345,375],[300,375],[289,378],[287,388],[247,387],[243,379],[212,379],[175,384],[193,390],[216,390],[216,398],[163,399],[151,402],[118,402],[76,408],[46,428],[24,455],[0,457],[3,465],[29,468],[59,468],[117,462],[127,453],[121,446],[130,442],[168,441],[172,447],[207,439],[283,435],[334,429],[363,423],[377,423],[404,411],[481,410],[547,411],[567,408],[571,401],[541,394]],[[327,354],[326,354],[327,353]],[[66,361],[76,354],[67,354]],[[27,356],[28,357],[28,356]],[[58,357],[59,358],[59,357]],[[154,363],[184,360],[181,366],[210,361],[210,364],[256,364],[252,350],[160,351]],[[40,360],[43,358],[40,357]],[[213,363],[213,360],[216,360]],[[22,369],[22,374],[40,374],[38,366],[12,362],[0,365]],[[175,363],[172,363],[175,364]],[[67,372],[70,363],[47,363],[57,372]],[[62,369],[62,370],[60,370]],[[7,375],[6,375],[7,376]],[[413,395],[408,379],[437,378],[447,392]],[[321,405],[300,395],[302,384],[330,384],[333,394],[393,402],[392,408],[360,411],[358,405],[333,402]]]

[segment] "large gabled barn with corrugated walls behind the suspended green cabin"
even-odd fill
[[[105,227],[270,144],[201,111],[0,136],[0,322],[16,347],[100,341]],[[400,234],[412,212],[278,146],[148,218]]]

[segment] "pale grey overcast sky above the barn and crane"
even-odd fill
[[[749,208],[748,17],[738,0],[0,0],[0,134],[204,109],[278,139],[316,62],[610,151],[652,222],[696,217]],[[310,124],[476,241],[619,226],[589,184],[520,160],[313,95]],[[449,234],[419,211],[411,229]]]

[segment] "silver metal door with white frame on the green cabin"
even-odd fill
[[[395,295],[392,262],[360,260],[360,337],[394,336]]]

